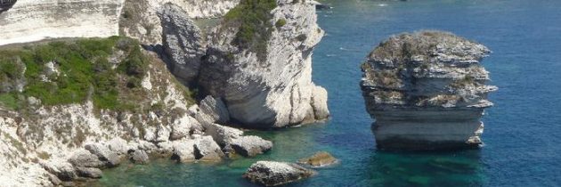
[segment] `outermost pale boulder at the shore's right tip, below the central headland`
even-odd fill
[[[255,135],[241,136],[233,139],[232,149],[245,157],[255,157],[272,149],[272,142]]]

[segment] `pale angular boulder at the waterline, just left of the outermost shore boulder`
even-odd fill
[[[203,136],[195,141],[195,159],[214,162],[224,157],[224,152],[211,136]]]

